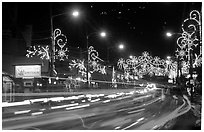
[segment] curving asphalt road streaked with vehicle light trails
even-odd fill
[[[76,98],[76,97],[75,97]],[[3,130],[146,130],[160,129],[190,109],[187,98],[161,90],[82,95],[2,120]]]

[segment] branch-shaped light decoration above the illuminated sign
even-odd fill
[[[39,56],[41,59],[46,59],[50,60],[50,55],[49,55],[49,46],[41,46],[41,45],[35,45],[35,46],[30,46],[30,48],[27,50],[26,57],[34,57],[34,56]]]

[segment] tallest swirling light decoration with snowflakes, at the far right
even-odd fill
[[[192,59],[193,68],[202,64],[202,40],[201,40],[201,15],[199,11],[190,12],[190,17],[185,19],[182,24],[182,35],[177,39],[178,48],[176,56],[183,63],[182,69],[187,72],[190,68],[190,59]]]

